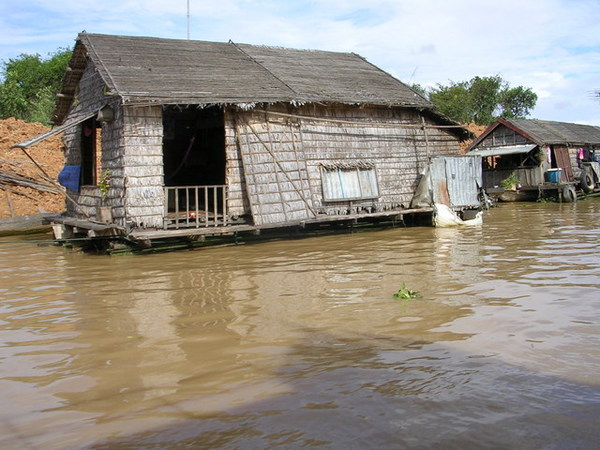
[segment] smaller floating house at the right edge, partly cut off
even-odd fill
[[[482,157],[483,187],[506,199],[535,199],[546,190],[574,201],[575,189],[600,182],[600,127],[530,119],[498,119],[468,148]],[[511,181],[512,180],[512,181]],[[508,183],[516,185],[512,193]],[[504,188],[503,188],[504,185]]]

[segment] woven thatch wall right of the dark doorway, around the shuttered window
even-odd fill
[[[251,212],[262,224],[408,207],[428,156],[460,152],[448,130],[427,127],[425,132],[417,127],[421,120],[411,109],[309,105],[229,110],[229,211]],[[425,124],[434,125],[427,119]],[[324,202],[321,167],[361,163],[375,166],[379,199]]]

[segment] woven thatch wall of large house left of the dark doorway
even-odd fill
[[[79,83],[77,107],[70,116],[81,111],[94,111],[109,104],[114,120],[102,124],[97,148],[100,166],[110,170],[111,188],[102,200],[96,186],[81,186],[67,200],[70,215],[86,219],[97,218],[97,207],[112,208],[113,221],[121,226],[127,222],[138,227],[162,227],[164,210],[162,108],[123,107],[118,100],[104,95],[105,84],[90,63]],[[67,130],[66,164],[81,163],[81,126]]]

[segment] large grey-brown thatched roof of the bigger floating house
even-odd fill
[[[354,53],[80,33],[55,122],[71,106],[87,57],[126,103],[333,102],[433,105]]]

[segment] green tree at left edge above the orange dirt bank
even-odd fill
[[[0,118],[48,123],[71,51],[58,49],[47,59],[21,54],[2,63]]]

